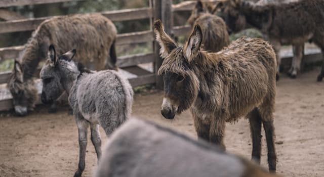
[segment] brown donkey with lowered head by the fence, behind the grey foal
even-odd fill
[[[47,57],[51,43],[59,53],[76,48],[77,55],[89,69],[116,69],[114,24],[101,14],[54,17],[41,23],[22,51],[8,81],[15,112],[24,116],[37,100],[33,75],[37,65]],[[20,64],[19,64],[20,63]],[[52,110],[53,111],[53,110]]]

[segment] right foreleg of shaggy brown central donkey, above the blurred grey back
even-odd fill
[[[219,145],[224,151],[226,150],[223,142],[225,134],[225,121],[223,120],[212,120],[211,127],[209,130],[210,142]]]

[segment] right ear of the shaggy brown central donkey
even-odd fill
[[[184,56],[187,58],[188,63],[190,63],[192,59],[197,55],[202,40],[203,32],[201,32],[199,25],[195,25],[183,50]]]

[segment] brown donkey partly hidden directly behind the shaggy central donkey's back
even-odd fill
[[[203,30],[202,48],[210,52],[218,52],[230,43],[227,27],[222,18],[208,12],[207,5],[198,1],[188,23],[193,27],[199,25]]]

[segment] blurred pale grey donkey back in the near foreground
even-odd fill
[[[266,172],[248,160],[227,154],[205,141],[195,141],[152,122],[130,119],[109,138],[95,176],[277,175]]]

